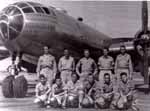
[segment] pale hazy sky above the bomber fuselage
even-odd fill
[[[17,1],[26,0],[0,0],[0,10]],[[112,38],[134,37],[141,29],[140,1],[27,1],[65,9],[69,15],[74,18],[82,17],[85,24]],[[148,4],[150,13],[150,2]]]

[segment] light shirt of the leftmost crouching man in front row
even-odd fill
[[[50,89],[51,88],[48,82],[45,85],[39,82],[35,87],[35,92],[36,95],[40,96],[40,95],[44,95]]]

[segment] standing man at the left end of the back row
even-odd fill
[[[57,72],[57,66],[55,57],[49,54],[47,46],[44,46],[44,55],[40,56],[36,71],[38,76],[43,74],[47,78],[50,85],[52,85]]]

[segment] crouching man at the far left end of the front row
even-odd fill
[[[39,83],[36,85],[35,94],[36,99],[34,103],[38,103],[40,106],[46,105],[48,95],[51,93],[51,88],[44,75],[39,76]]]

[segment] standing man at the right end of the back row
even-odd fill
[[[117,80],[120,79],[120,74],[122,72],[127,73],[127,76],[132,79],[133,67],[131,56],[126,53],[126,47],[124,45],[120,46],[120,52],[121,54],[117,56],[115,62],[115,74],[117,74]]]

